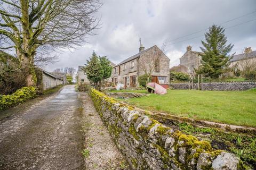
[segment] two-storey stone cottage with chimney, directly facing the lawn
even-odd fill
[[[149,70],[153,70],[151,81],[168,88],[170,79],[169,65],[169,57],[156,45],[148,49],[141,45],[139,53],[126,58],[113,67],[111,78],[115,86],[117,83],[122,83],[125,87],[139,87],[138,77],[145,74],[145,72],[149,72]]]

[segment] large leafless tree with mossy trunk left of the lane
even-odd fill
[[[29,70],[27,86],[33,86],[36,53],[84,44],[98,28],[100,6],[99,0],[1,0],[0,48],[15,50]]]

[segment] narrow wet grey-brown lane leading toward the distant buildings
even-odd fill
[[[0,121],[0,169],[88,169],[81,153],[86,111],[78,94],[73,85],[65,86],[58,95]]]

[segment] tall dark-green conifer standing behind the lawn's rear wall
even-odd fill
[[[229,61],[234,55],[228,55],[234,45],[226,45],[227,37],[225,29],[218,25],[212,25],[209,32],[205,33],[205,41],[202,40],[204,47],[202,50],[201,66],[197,73],[204,74],[206,77],[219,78],[229,66]]]

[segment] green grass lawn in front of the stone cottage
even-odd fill
[[[142,90],[146,92],[146,90]],[[133,90],[132,92],[141,92]],[[151,110],[213,122],[256,127],[256,89],[247,91],[167,90],[166,95],[126,99]]]

